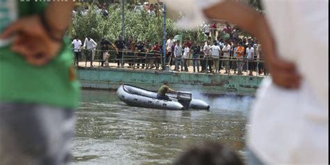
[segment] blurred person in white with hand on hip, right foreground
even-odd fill
[[[265,0],[265,16],[237,1],[166,2],[186,15],[179,26],[226,19],[260,41],[272,77],[249,118],[249,164],[328,164],[329,2]]]

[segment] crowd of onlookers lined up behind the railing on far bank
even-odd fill
[[[109,66],[109,61],[115,60],[118,67],[128,63],[128,67],[142,69],[161,69],[163,47],[155,42],[151,44],[148,40],[134,40],[132,36],[128,40],[118,37],[114,43],[102,38],[100,49],[96,51],[97,43],[92,38],[85,38],[84,43],[74,38],[72,41],[74,49],[74,64],[79,65],[81,60],[81,49],[85,49],[86,60],[95,61],[95,53],[99,56],[98,61],[104,67]],[[223,40],[218,37],[212,40],[209,37],[206,41],[197,42],[185,38],[183,42],[174,40],[170,36],[166,41],[166,63],[169,66],[175,65],[177,72],[189,72],[189,63],[192,63],[194,72],[219,73],[225,70],[224,74],[243,74],[249,71],[249,75],[258,71],[258,74],[267,75],[267,69],[263,64],[262,48],[256,38],[231,38]],[[110,58],[109,52],[116,56]],[[191,61],[191,62],[190,62]],[[258,62],[257,62],[258,61]],[[147,66],[146,66],[147,65]],[[180,65],[180,66],[179,66]]]

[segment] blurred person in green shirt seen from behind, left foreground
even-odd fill
[[[0,0],[0,164],[67,164],[79,101],[73,1]]]

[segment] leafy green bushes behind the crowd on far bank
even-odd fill
[[[108,17],[97,13],[97,8],[91,6],[87,15],[81,15],[77,12],[76,17],[72,21],[72,36],[77,36],[84,40],[90,36],[95,42],[100,42],[102,38],[114,41],[122,34],[122,10],[121,8],[109,6]],[[178,29],[174,26],[173,20],[166,19],[166,35],[182,34],[184,38],[198,41],[205,40],[205,36],[201,31],[187,31]],[[146,12],[136,13],[125,8],[125,39],[133,36],[134,40],[149,40],[151,43],[160,42],[163,39],[163,13],[159,13],[159,17],[150,17]]]

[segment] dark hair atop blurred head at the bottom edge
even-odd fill
[[[221,143],[205,141],[184,152],[174,165],[243,165],[238,155]]]

